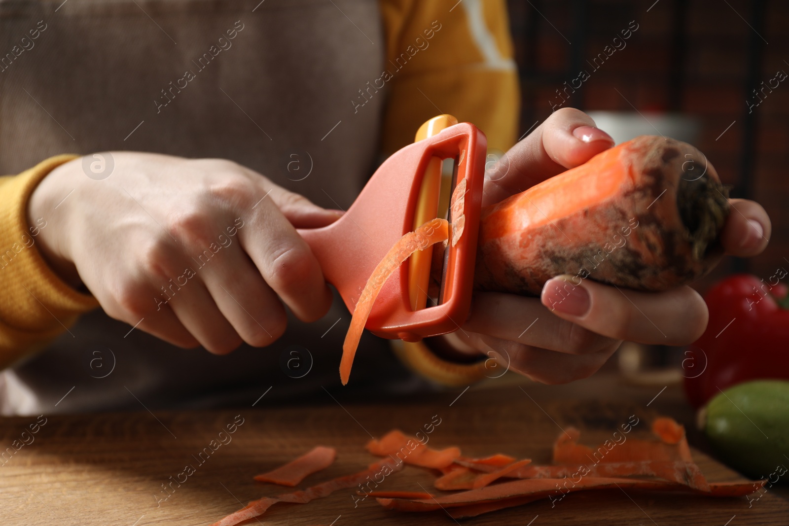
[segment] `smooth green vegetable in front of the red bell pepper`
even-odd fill
[[[730,387],[701,409],[699,424],[720,460],[732,468],[753,479],[772,474],[789,483],[789,382],[757,380]]]

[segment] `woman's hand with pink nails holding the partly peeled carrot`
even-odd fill
[[[594,126],[579,110],[556,111],[488,174],[483,204],[522,192],[613,146]],[[733,256],[756,256],[770,237],[767,213],[753,201],[731,200],[731,206],[721,234],[724,248]],[[476,293],[469,319],[448,341],[458,351],[488,354],[539,382],[562,383],[592,375],[623,340],[687,345],[707,325],[707,306],[688,286],[639,293],[590,279],[568,285],[568,278],[549,280],[540,299]]]

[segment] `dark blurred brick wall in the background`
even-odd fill
[[[641,111],[679,110],[696,116],[701,120],[696,146],[724,183],[734,187],[732,196],[750,193],[772,218],[772,239],[762,256],[745,262],[727,259],[697,288],[705,289],[712,279],[735,270],[760,278],[768,278],[777,267],[789,270],[789,79],[753,108],[750,121],[746,116],[749,81],[766,83],[778,70],[789,73],[789,2],[508,3],[522,79],[521,133],[551,114],[550,101],[559,100],[555,90],[565,81],[569,84],[580,69],[589,70],[591,76],[566,106],[621,111],[635,106]],[[639,28],[626,40],[626,47],[596,71],[591,69],[585,61],[611,44],[630,21]],[[749,127],[753,133],[747,132]],[[747,155],[748,137],[753,138],[752,156]],[[742,178],[745,172],[750,173],[747,185]]]

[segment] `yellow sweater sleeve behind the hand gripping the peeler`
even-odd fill
[[[33,189],[47,173],[75,157],[58,155],[19,175],[0,177],[0,368],[31,353],[98,306],[94,297],[62,282],[36,248],[36,236],[47,228],[47,218],[36,218],[28,226]]]

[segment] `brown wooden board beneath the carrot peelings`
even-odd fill
[[[336,390],[336,400],[327,394],[327,405],[314,407],[272,407],[264,397],[255,407],[250,404],[235,411],[49,416],[32,435],[32,442],[25,436],[29,445],[0,467],[0,524],[207,525],[252,499],[282,492],[279,487],[256,483],[252,476],[318,444],[335,446],[337,461],[302,486],[365,468],[375,460],[365,452],[365,442],[393,427],[413,434],[434,423],[428,435],[431,446],[457,445],[471,456],[500,452],[542,463],[549,460],[552,442],[562,428],[578,427],[581,442],[596,445],[636,418],[639,423],[629,435],[635,437],[647,431],[653,409],[659,406],[646,407],[643,400],[602,402],[589,392],[586,397],[556,397],[550,389],[525,383],[436,393],[428,403],[374,405],[346,400],[342,390]],[[0,421],[0,445],[10,446],[34,422],[35,417]],[[228,424],[234,433],[219,435]],[[742,479],[697,450],[694,457],[710,480]],[[181,475],[187,465],[193,473]],[[177,478],[185,482],[173,483]],[[380,489],[429,490],[433,479],[429,472],[407,466],[387,477]],[[163,485],[167,484],[166,493]],[[249,524],[455,524],[443,512],[396,513],[381,508],[372,498],[361,502],[356,498],[352,490],[342,490],[308,505],[278,504],[260,521]],[[750,502],[746,498],[599,491],[569,494],[554,503],[535,502],[463,524],[787,523],[789,502],[774,491]]]

